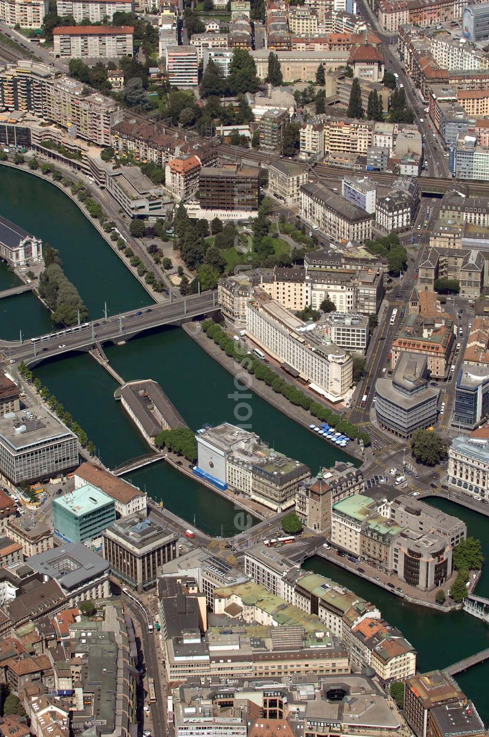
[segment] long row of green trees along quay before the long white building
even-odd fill
[[[208,335],[208,338],[214,340],[220,349],[222,349],[226,355],[233,358],[237,363],[243,366],[244,370],[249,374],[253,374],[260,381],[263,381],[267,386],[270,386],[276,394],[281,394],[283,397],[289,400],[292,405],[302,407],[309,411],[312,416],[317,417],[320,422],[327,422],[331,427],[336,429],[351,439],[357,439],[362,441],[367,447],[370,445],[370,436],[368,433],[364,433],[359,430],[357,425],[352,425],[351,422],[347,422],[342,419],[340,415],[332,410],[329,410],[320,402],[316,402],[308,394],[304,394],[297,387],[286,382],[278,374],[267,366],[266,363],[253,357],[253,355],[243,354],[242,346],[236,343],[236,340],[232,340],[226,335],[225,331],[220,325],[215,323],[213,320],[205,320],[202,326],[203,331]]]

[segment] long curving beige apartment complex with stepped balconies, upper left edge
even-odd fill
[[[32,61],[0,72],[0,105],[51,120],[101,147],[110,145],[110,130],[122,120],[122,108],[113,99],[85,94],[81,83]]]

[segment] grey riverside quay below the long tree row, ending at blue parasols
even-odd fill
[[[216,343],[214,343],[214,340],[211,340],[207,337],[207,335],[205,335],[205,333],[200,328],[200,324],[189,322],[183,324],[182,327],[187,335],[195,340],[195,342],[198,343],[198,345],[209,356],[214,358],[217,363],[220,363],[222,368],[225,368],[226,371],[229,371],[229,373],[233,374],[234,377],[239,377],[239,375],[243,374],[244,369],[241,366],[236,366],[236,363],[233,361],[233,359],[226,355],[225,352],[222,351],[219,346],[216,345]],[[276,392],[273,391],[270,386],[267,386],[267,384],[265,384],[263,381],[259,381],[258,379],[253,380],[253,376],[251,374],[250,380],[251,383],[249,388],[251,389],[251,391],[257,394],[258,397],[261,397],[261,399],[264,399],[265,402],[268,402],[270,405],[272,405],[272,407],[275,407],[275,409],[278,409],[278,411],[284,413],[286,416],[289,416],[291,419],[295,420],[295,422],[298,422],[299,425],[306,427],[306,430],[309,430],[309,432],[311,432],[310,425],[317,426],[317,417],[312,416],[310,412],[303,410],[300,407],[296,407],[295,405],[291,405],[291,403],[287,399],[285,399],[285,397],[282,397],[281,394],[276,394]],[[312,435],[317,436],[317,433],[312,433]],[[328,441],[325,440],[324,442],[325,444],[333,447],[331,443],[328,443]],[[362,464],[362,450],[356,443],[349,444],[348,450],[346,448],[340,448],[340,450],[345,455],[349,455],[352,461],[356,461],[356,464]]]

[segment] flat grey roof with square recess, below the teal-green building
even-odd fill
[[[78,542],[66,542],[60,548],[38,553],[29,558],[29,565],[41,575],[57,581],[65,591],[76,590],[85,581],[108,573],[110,568],[102,556]]]

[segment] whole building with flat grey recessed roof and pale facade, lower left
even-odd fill
[[[29,566],[43,576],[44,581],[57,582],[68,607],[110,595],[108,562],[86,545],[66,542],[59,548],[33,556]]]

